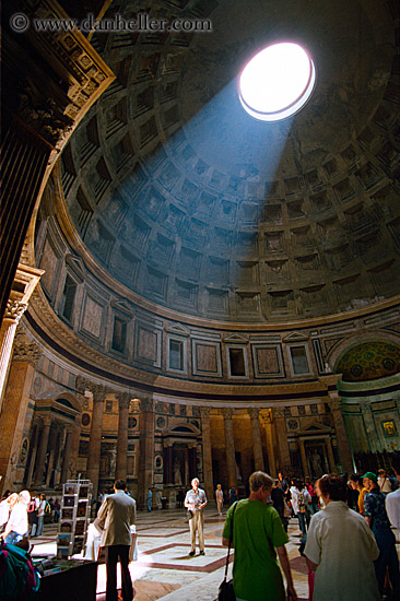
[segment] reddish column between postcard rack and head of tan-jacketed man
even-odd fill
[[[105,386],[93,385],[93,411],[89,438],[86,478],[93,483],[93,497],[97,498],[99,461],[102,451],[104,401],[107,394]]]

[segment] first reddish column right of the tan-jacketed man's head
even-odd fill
[[[145,509],[148,491],[154,483],[154,401],[140,401],[140,443],[138,475],[138,508]]]

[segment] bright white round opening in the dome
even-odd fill
[[[279,121],[306,104],[315,80],[314,62],[302,46],[273,44],[252,57],[242,71],[240,103],[256,119]]]

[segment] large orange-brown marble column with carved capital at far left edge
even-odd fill
[[[14,353],[0,414],[0,487],[13,488],[20,458],[24,424],[35,363],[40,351],[20,332],[15,337]]]

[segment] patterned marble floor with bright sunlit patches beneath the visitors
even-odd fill
[[[205,555],[189,556],[189,526],[184,509],[138,512],[138,561],[130,564],[136,589],[136,601],[214,601],[223,579],[226,549],[221,544],[224,518],[215,508],[205,508]],[[308,599],[307,568],[298,553],[299,531],[297,519],[289,526],[287,553],[299,601]],[[56,553],[57,525],[46,525],[34,544],[32,554]],[[232,552],[233,553],[233,552]],[[230,566],[231,575],[232,566]],[[97,571],[97,599],[105,600],[105,566]]]

